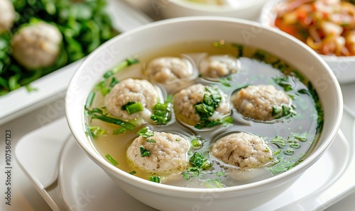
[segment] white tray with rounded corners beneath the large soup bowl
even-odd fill
[[[285,193],[253,211],[324,210],[351,194],[355,190],[354,123],[355,117],[345,110],[341,130],[322,158]],[[53,210],[154,210],[116,186],[67,134],[62,118],[24,136],[15,151],[21,168]],[[44,161],[43,152],[51,159]],[[49,188],[42,186],[48,169],[38,169],[40,165],[58,167],[58,181],[51,178],[55,182]]]

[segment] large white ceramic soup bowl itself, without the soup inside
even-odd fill
[[[285,59],[312,81],[324,109],[324,127],[312,154],[293,169],[272,178],[229,188],[182,188],[132,176],[109,164],[84,133],[84,103],[102,74],[127,57],[187,40],[220,40],[258,47]],[[323,77],[324,76],[324,77]],[[251,210],[287,190],[328,149],[342,118],[342,93],[331,69],[309,47],[273,28],[223,17],[158,21],[123,33],[92,52],[73,76],[65,99],[67,121],[77,144],[127,193],[158,210]],[[98,183],[100,181],[97,181]]]

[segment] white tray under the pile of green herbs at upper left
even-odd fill
[[[107,3],[112,24],[121,33],[153,22],[146,14],[137,11],[124,1],[108,0]],[[64,98],[70,79],[82,61],[83,59],[80,59],[33,81],[31,86],[38,89],[37,91],[28,92],[25,87],[21,87],[0,96],[0,125],[40,108],[50,101]]]

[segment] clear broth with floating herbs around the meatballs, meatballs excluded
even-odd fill
[[[204,77],[198,70],[200,62],[212,55],[233,57],[237,61],[237,68],[226,76]],[[88,139],[100,155],[122,171],[173,186],[191,188],[239,186],[260,181],[293,168],[305,159],[307,153],[312,151],[312,146],[320,136],[323,124],[322,106],[312,84],[297,72],[297,69],[267,51],[236,43],[224,43],[220,40],[218,42],[177,43],[148,52],[140,52],[132,57],[138,60],[134,60],[135,64],[118,61],[122,62],[119,65],[119,71],[109,71],[103,76],[94,87],[85,105],[85,126]],[[146,69],[149,62],[158,57],[185,58],[192,64],[191,76],[176,79],[169,84],[151,81],[149,75],[146,74]],[[120,81],[129,78],[150,81],[161,91],[159,100],[170,102],[167,104],[171,106],[170,119],[166,124],[141,120],[140,118],[144,115],[138,115],[138,118],[134,120],[126,120],[109,113],[104,104],[105,98],[109,95],[113,84],[119,84]],[[226,103],[231,105],[229,113],[219,116],[216,124],[202,128],[180,120],[174,108],[174,98],[170,96],[174,96],[175,93],[192,84],[217,87],[224,93]],[[285,93],[290,98],[289,105],[285,105],[287,108],[285,114],[276,115],[273,120],[257,120],[242,115],[231,103],[231,98],[241,89],[251,85],[272,85],[278,91]],[[279,112],[276,109],[274,111]],[[121,122],[112,123],[107,121],[107,118],[119,119],[122,122],[128,122],[131,126],[127,129],[124,125],[122,126]],[[212,123],[215,122],[212,121]],[[154,172],[147,171],[128,159],[127,149],[133,140],[140,136],[137,132],[143,127],[148,131],[168,132],[186,139],[190,147],[186,152],[185,166],[179,171]],[[238,132],[261,137],[268,147],[266,151],[271,152],[268,162],[261,166],[244,168],[226,163],[211,153],[212,146],[217,140]],[[141,150],[142,157],[143,151]],[[200,158],[206,165],[194,166],[192,164],[190,159],[196,152],[200,154]],[[233,149],[231,152],[236,151]]]

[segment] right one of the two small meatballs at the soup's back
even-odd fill
[[[229,55],[214,55],[200,62],[202,77],[219,78],[236,73],[240,69],[240,62]]]

